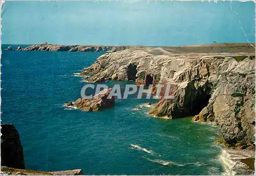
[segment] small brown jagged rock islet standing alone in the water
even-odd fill
[[[91,98],[79,98],[73,104],[68,103],[67,106],[75,106],[83,111],[99,111],[102,109],[108,109],[115,106],[115,98],[111,94],[112,89],[96,94]],[[110,98],[108,98],[110,96]]]

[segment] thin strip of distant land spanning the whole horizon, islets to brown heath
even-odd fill
[[[3,45],[3,44],[2,44]],[[5,44],[8,45],[8,44]],[[11,44],[9,44],[11,45]],[[18,44],[15,44],[18,45]],[[157,48],[174,51],[177,53],[229,53],[230,48],[243,50],[245,47],[255,47],[254,43],[216,43],[216,44],[198,44],[198,45],[182,45],[182,46],[142,46],[142,45],[58,45],[58,44],[34,44],[22,48],[19,45],[17,48],[4,49],[5,51],[50,51],[50,52],[118,52],[124,49],[139,49],[139,48]]]

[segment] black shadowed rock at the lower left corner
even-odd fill
[[[1,124],[1,165],[25,169],[23,147],[13,124]]]

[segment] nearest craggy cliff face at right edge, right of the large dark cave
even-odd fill
[[[221,125],[224,139],[231,146],[247,147],[255,140],[254,63],[249,58],[221,63],[217,86],[209,100],[214,120]]]

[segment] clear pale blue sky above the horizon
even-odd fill
[[[254,25],[253,2],[6,2],[2,43],[254,42]]]

